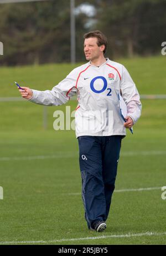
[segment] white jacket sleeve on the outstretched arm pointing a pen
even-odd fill
[[[29,101],[45,106],[59,106],[69,101],[77,92],[75,88],[77,72],[75,69],[51,90],[37,91],[32,89],[33,96]]]

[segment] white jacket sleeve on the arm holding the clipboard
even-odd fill
[[[133,119],[133,123],[136,123],[138,118],[141,116],[142,104],[136,85],[134,84],[131,76],[124,66],[122,66],[122,79],[120,88],[122,98],[127,104],[128,116]]]

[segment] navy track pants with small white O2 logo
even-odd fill
[[[122,138],[122,135],[78,138],[82,200],[89,228],[108,217]]]

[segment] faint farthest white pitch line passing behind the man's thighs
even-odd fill
[[[166,151],[138,151],[138,152],[122,152],[121,157],[131,157],[133,155],[165,155]],[[24,155],[23,157],[0,157],[0,161],[11,160],[44,160],[54,158],[70,158],[78,157],[78,152],[58,152],[56,155]]]

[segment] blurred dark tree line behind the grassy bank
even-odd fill
[[[108,38],[107,56],[158,54],[166,41],[166,0],[75,0],[76,61],[84,33],[100,29]],[[87,14],[84,7],[94,7]],[[83,9],[83,10],[82,10]],[[91,10],[91,8],[89,8]],[[0,4],[2,65],[70,62],[70,1],[53,0]]]

